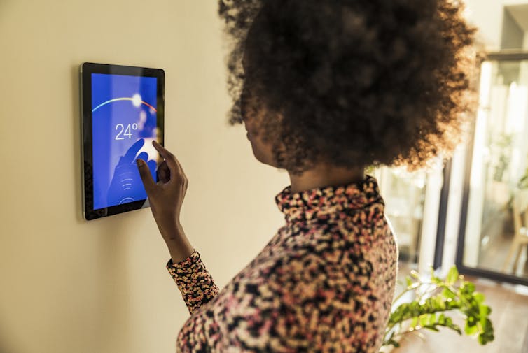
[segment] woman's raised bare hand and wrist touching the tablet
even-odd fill
[[[158,167],[160,181],[156,184],[146,162],[142,159],[137,159],[137,166],[151,204],[152,214],[169,247],[172,262],[176,264],[194,251],[180,224],[181,205],[187,192],[188,180],[174,154],[156,141],[152,144],[165,159]]]

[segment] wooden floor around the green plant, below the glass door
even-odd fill
[[[498,284],[466,276],[486,296],[495,340],[485,346],[449,329],[408,334],[391,353],[528,353],[528,287]],[[461,324],[461,321],[457,322]],[[421,330],[422,331],[422,330]]]

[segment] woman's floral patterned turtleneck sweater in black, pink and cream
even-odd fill
[[[219,290],[200,254],[167,269],[190,317],[177,352],[368,352],[382,344],[398,250],[377,182],[275,196],[286,224]]]

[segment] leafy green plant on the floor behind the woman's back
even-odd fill
[[[414,292],[415,300],[398,305],[389,317],[383,346],[398,347],[398,340],[408,333],[421,329],[439,331],[447,327],[461,335],[463,332],[478,338],[481,345],[494,339],[493,325],[489,320],[492,311],[485,305],[485,296],[475,291],[475,284],[464,280],[453,266],[444,280],[436,277],[431,268],[431,278],[424,281],[416,271],[406,277],[405,289],[394,298],[394,304],[405,294]],[[464,329],[454,324],[448,314],[464,318]]]

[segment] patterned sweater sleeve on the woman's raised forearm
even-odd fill
[[[169,259],[167,270],[178,285],[191,314],[218,294],[219,289],[196,250],[177,264]]]

